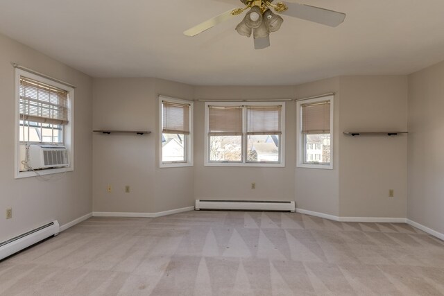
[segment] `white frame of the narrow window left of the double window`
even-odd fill
[[[189,105],[189,134],[186,141],[187,144],[187,161],[186,162],[163,162],[162,161],[162,101],[167,101],[171,103],[178,104],[188,104]],[[180,168],[185,166],[194,166],[193,160],[193,147],[194,147],[194,128],[193,128],[193,116],[194,116],[194,102],[188,100],[182,100],[180,98],[170,98],[168,96],[159,96],[159,167],[160,168]]]

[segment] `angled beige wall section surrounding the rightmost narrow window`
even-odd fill
[[[308,211],[339,216],[339,110],[341,94],[339,92],[339,78],[330,78],[309,82],[296,86],[296,98],[319,96],[330,92],[334,96],[334,128],[333,128],[333,169],[296,167],[296,207]],[[296,114],[296,110],[294,110]],[[296,121],[295,121],[296,125]],[[296,134],[296,126],[294,128]]]

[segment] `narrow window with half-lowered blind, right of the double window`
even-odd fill
[[[332,106],[333,96],[298,101],[298,166],[333,168]]]

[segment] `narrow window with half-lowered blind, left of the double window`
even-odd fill
[[[193,103],[159,96],[160,167],[192,166]]]

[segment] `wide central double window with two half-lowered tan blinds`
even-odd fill
[[[206,103],[206,166],[284,166],[284,103]]]

